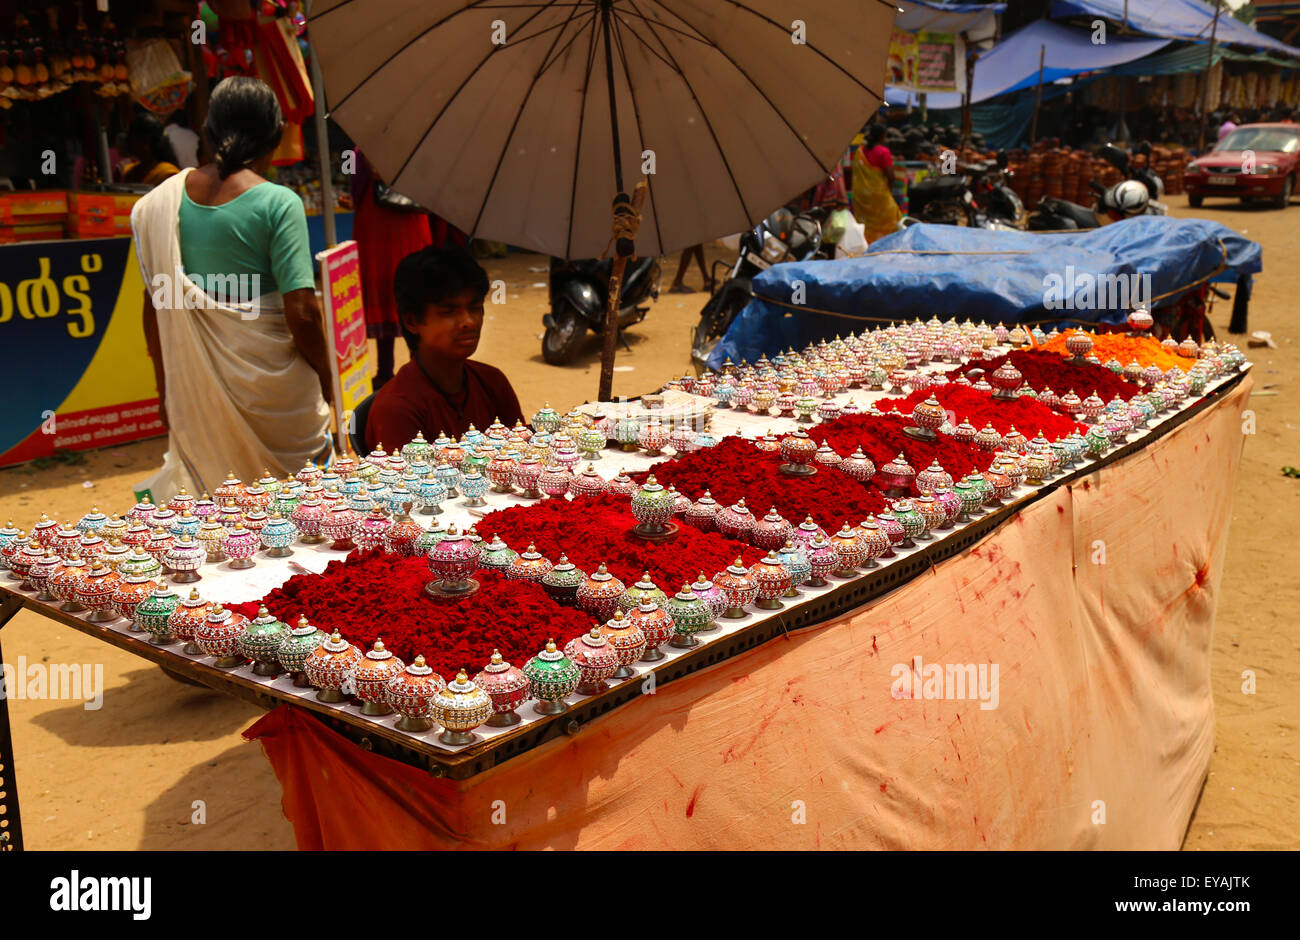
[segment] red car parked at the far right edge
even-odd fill
[[[1195,209],[1205,196],[1268,199],[1283,209],[1296,187],[1300,124],[1243,124],[1183,173],[1187,203]]]

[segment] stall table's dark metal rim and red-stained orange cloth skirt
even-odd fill
[[[34,601],[30,593],[0,585],[5,595],[5,619],[18,606],[32,607],[213,688],[263,705],[292,702],[359,741],[361,746],[356,748],[321,723],[304,724],[300,712],[286,709],[278,709],[250,731],[250,735],[261,736],[285,785],[285,809],[304,848],[450,846],[458,842],[607,848],[624,844],[664,848],[772,844],[774,832],[763,826],[750,828],[748,835],[741,833],[745,828],[741,826],[732,829],[733,836],[724,836],[729,826],[724,819],[729,813],[745,816],[734,801],[746,792],[755,794],[755,772],[763,781],[759,798],[785,792],[783,787],[789,792],[803,787],[809,796],[829,801],[818,813],[833,806],[831,815],[819,815],[823,824],[831,826],[828,832],[815,826],[785,831],[767,819],[768,828],[784,833],[776,844],[952,846],[971,841],[971,827],[962,823],[956,829],[928,831],[924,826],[918,828],[920,820],[909,813],[880,829],[863,828],[862,823],[864,814],[880,810],[879,805],[872,809],[872,803],[884,801],[890,785],[896,793],[890,800],[920,800],[911,810],[928,806],[926,811],[935,811],[935,805],[922,798],[927,793],[931,797],[942,793],[945,800],[953,796],[948,788],[956,784],[944,767],[950,755],[946,748],[936,744],[944,736],[937,731],[940,727],[946,729],[952,758],[958,764],[963,761],[961,753],[966,751],[965,759],[971,767],[996,767],[1001,775],[1001,783],[982,780],[976,785],[979,800],[975,805],[983,801],[985,813],[976,811],[974,824],[979,826],[980,815],[988,820],[980,829],[980,842],[1001,846],[1093,844],[1080,842],[1083,833],[1092,829],[1066,820],[1052,826],[1027,826],[1018,820],[1014,801],[1027,800],[1039,807],[1035,813],[1041,814],[1045,802],[1078,789],[1079,784],[1071,783],[1075,770],[1065,772],[1057,766],[1060,746],[1065,744],[1074,751],[1071,761],[1078,764],[1080,777],[1100,785],[1096,784],[1102,779],[1098,768],[1109,768],[1119,775],[1117,779],[1128,779],[1139,788],[1128,797],[1112,796],[1112,800],[1123,802],[1127,798],[1144,811],[1153,810],[1152,819],[1131,816],[1127,811],[1122,819],[1112,818],[1112,823],[1122,824],[1093,832],[1095,844],[1171,845],[1180,837],[1209,754],[1208,636],[1213,603],[1206,598],[1213,597],[1217,584],[1217,569],[1210,563],[1221,555],[1226,538],[1226,506],[1240,451],[1240,442],[1230,432],[1238,420],[1236,412],[1244,406],[1249,380],[1230,376],[1214,386],[1205,399],[1157,423],[1153,429],[1139,432],[1138,439],[1101,462],[1061,475],[1041,488],[1022,488],[1013,504],[924,549],[900,553],[880,569],[854,580],[832,581],[820,590],[805,589],[805,599],[783,611],[750,611],[744,620],[723,621],[722,629],[698,650],[673,650],[662,663],[638,663],[632,679],[601,696],[580,697],[563,715],[529,715],[511,729],[484,728],[486,740],[472,746],[445,745],[432,732],[399,732],[391,719],[363,716],[352,705],[320,702],[309,689],[292,686],[287,677],[255,676],[250,667],[218,670],[181,654],[179,647],[150,646],[142,634],[131,633],[125,620],[92,624],[84,615],[57,611]],[[725,423],[727,419],[719,420]],[[731,420],[742,425],[748,417],[733,413]],[[775,419],[760,421],[779,424]],[[1196,439],[1202,429],[1209,432],[1204,446]],[[1208,451],[1213,451],[1209,462],[1212,454]],[[1179,480],[1175,489],[1165,478],[1167,471],[1164,468],[1182,460],[1218,467],[1221,472]],[[618,465],[620,462],[607,456],[606,465],[611,463]],[[1100,498],[1095,489],[1105,491],[1106,497]],[[1178,498],[1186,495],[1184,489],[1202,491],[1195,502],[1184,504]],[[1161,498],[1154,501],[1152,495]],[[1150,514],[1147,528],[1140,524],[1141,516],[1130,519],[1126,515],[1138,506]],[[1186,510],[1184,519],[1178,516],[1180,508]],[[1062,524],[1065,521],[1070,524]],[[1088,546],[1096,540],[1108,546],[1106,560],[1114,567],[1089,566],[1096,571],[1088,572],[1082,564],[1065,564],[1069,559],[1088,558],[1092,551]],[[1162,588],[1170,579],[1143,576],[1141,566],[1128,556],[1128,546],[1139,542],[1143,543],[1139,556],[1152,573],[1161,573],[1164,568],[1173,572],[1196,562],[1193,582],[1199,594],[1191,598],[1195,603],[1175,603],[1176,597],[1162,598],[1152,590],[1150,581],[1161,581],[1156,586]],[[1154,551],[1157,545],[1160,553]],[[1166,558],[1171,550],[1178,558],[1179,546],[1183,546],[1184,562]],[[338,553],[300,546],[295,549],[294,563],[318,571],[332,555],[338,556]],[[269,586],[283,580],[287,567],[278,559],[264,559],[252,572],[218,569],[205,572],[204,579],[214,598],[238,602],[261,597]],[[1108,581],[1102,573],[1114,580]],[[901,590],[863,606],[864,601],[904,582],[907,584]],[[1170,582],[1176,585],[1179,581]],[[1122,627],[1105,621],[1106,597],[1112,610],[1117,603],[1127,608]],[[1154,601],[1161,603],[1147,603]],[[1170,629],[1148,637],[1131,633],[1139,627],[1150,629],[1153,623]],[[810,625],[816,628],[800,631]],[[776,637],[781,641],[764,645]],[[1191,653],[1184,649],[1188,638]],[[997,653],[978,653],[982,642],[992,642]],[[745,655],[737,655],[741,653]],[[920,711],[918,716],[913,711],[900,711],[897,699],[906,696],[890,696],[890,689],[897,690],[906,672],[900,672],[900,664],[913,663],[914,655],[926,663],[970,663],[975,668],[972,675],[978,675],[979,663],[997,666],[1004,679],[1010,673],[1015,683],[997,692],[994,677],[994,694],[1000,696],[997,709],[979,707],[980,702],[968,696],[956,702],[936,699],[931,705],[928,697],[919,694],[924,689],[922,685],[916,697],[927,701],[915,706]],[[1131,703],[1136,714],[1130,720],[1114,712],[1123,696],[1102,679],[1157,676],[1161,668],[1170,671],[1170,663],[1173,675],[1160,676],[1161,681],[1150,686],[1154,694],[1136,697]],[[715,668],[703,676],[673,681],[710,666]],[[922,670],[920,664],[916,668]],[[649,671],[655,673],[653,684],[645,679]],[[729,677],[722,681],[723,675]],[[926,675],[923,670],[922,675]],[[1062,709],[1067,701],[1072,705]],[[1170,707],[1170,701],[1178,707]],[[783,702],[784,707],[777,707]],[[624,703],[630,705],[586,727]],[[755,718],[759,712],[763,716]],[[966,728],[961,729],[963,715]],[[866,723],[876,718],[884,719],[883,723],[867,729]],[[1079,727],[1074,722],[1079,722]],[[1152,754],[1161,753],[1157,742],[1179,723],[1183,746],[1174,751],[1169,766],[1144,764]],[[1035,724],[1048,736],[1046,750],[1031,746]],[[890,744],[884,749],[888,753],[876,753],[880,748],[874,742],[884,741],[878,736],[885,735],[892,725],[897,729],[890,740],[907,744]],[[567,737],[566,732],[573,736]],[[737,736],[745,738],[744,746],[737,745]],[[722,748],[727,740],[732,740],[729,749]],[[863,741],[867,753],[854,754],[854,746]],[[1141,774],[1130,774],[1131,768],[1117,766],[1123,744],[1131,746],[1134,741],[1150,745],[1139,749],[1144,751],[1138,755],[1143,761],[1135,758],[1135,766],[1141,764]],[[918,750],[920,742],[928,744]],[[376,753],[367,754],[367,750]],[[901,750],[907,753],[898,753]],[[790,758],[801,751],[816,754],[818,759],[792,762]],[[715,759],[719,754],[720,763]],[[764,754],[764,759],[755,759],[758,754]],[[307,755],[311,755],[309,764],[303,763]],[[655,759],[660,763],[651,763]],[[408,766],[402,767],[399,762]],[[732,772],[722,768],[731,763],[736,763],[728,768]],[[1048,774],[1049,763],[1061,772]],[[412,771],[411,766],[420,770]],[[806,776],[809,767],[820,768],[816,783]],[[582,768],[594,777],[575,781],[573,774],[582,774]],[[781,772],[774,776],[776,768]],[[827,790],[826,771],[831,768],[837,776],[833,788],[842,796],[832,797]],[[1031,775],[1030,780],[1006,785],[1022,771]],[[335,784],[342,779],[350,784],[318,789],[324,774]],[[434,781],[429,774],[455,781]],[[650,827],[653,833],[638,828],[628,835],[630,841],[614,835],[636,813],[650,811],[641,800],[647,796],[649,781],[663,784],[666,775],[680,780],[676,789],[693,792],[684,818],[696,822],[688,822],[682,829],[680,820],[670,827],[664,818],[662,826]],[[962,775],[967,777],[963,783],[968,783],[970,770],[963,770]],[[404,796],[389,790],[384,781],[393,777],[406,779],[412,787],[419,781],[417,790]],[[694,790],[688,787],[692,779],[699,783]],[[784,781],[783,787],[774,787],[777,780]],[[702,805],[697,806],[706,785],[716,790],[708,801],[712,805],[708,813]],[[558,789],[551,790],[552,787]],[[529,788],[534,796],[524,800]],[[538,788],[547,798],[537,798]],[[670,806],[684,796],[676,790],[660,793],[658,785],[651,789],[655,790],[655,814],[659,802],[668,814]],[[491,793],[503,794],[500,798],[514,807],[506,827],[478,827],[482,820],[477,820],[473,809],[480,800],[491,802]],[[590,794],[592,806],[575,803],[582,800],[582,793]],[[1096,798],[1105,800],[1105,796]],[[809,800],[801,800],[807,811]],[[1156,813],[1161,800],[1178,811]],[[546,805],[566,807],[563,818],[546,822]],[[893,811],[898,810],[894,805]],[[796,810],[786,810],[785,816],[792,813],[798,815]],[[1113,807],[1113,816],[1118,813],[1119,809]],[[811,815],[816,814],[809,814],[809,819]],[[355,828],[363,819],[365,827]],[[670,836],[670,831],[673,835]],[[823,842],[823,837],[827,841]],[[972,845],[980,842],[971,841]]]

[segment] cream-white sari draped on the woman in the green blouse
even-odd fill
[[[155,503],[181,486],[211,493],[228,472],[243,481],[264,469],[294,473],[321,454],[329,428],[329,406],[294,346],[283,298],[213,298],[186,277],[179,213],[188,174],[177,173],[131,211],[146,290],[166,302],[155,307],[170,437],[162,469],[136,488],[152,490]]]

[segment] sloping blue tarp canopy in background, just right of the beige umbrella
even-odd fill
[[[975,60],[971,103],[1036,86],[1040,53],[1044,61],[1043,83],[1049,85],[1060,78],[1131,62],[1158,52],[1169,43],[1169,39],[1108,35],[1105,43],[1095,44],[1088,30],[1036,20]],[[916,100],[915,95],[913,100]],[[893,107],[907,104],[907,91],[887,87],[885,101]],[[962,96],[953,91],[931,92],[926,103],[933,109],[961,108]]]

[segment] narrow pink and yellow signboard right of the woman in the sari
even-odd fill
[[[348,429],[343,425],[343,415],[355,412],[372,390],[361,257],[356,242],[342,242],[316,255],[316,261],[321,267],[325,337],[334,377],[334,416],[339,423],[339,437],[346,438]]]

